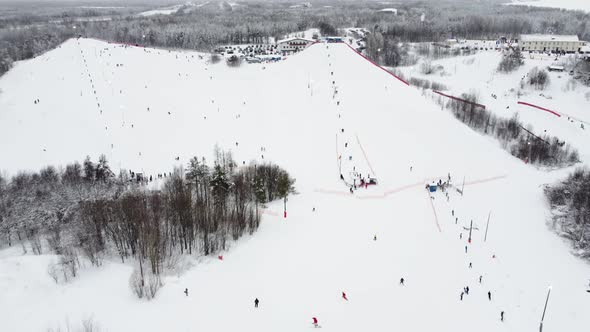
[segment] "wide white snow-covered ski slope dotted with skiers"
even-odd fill
[[[156,174],[217,143],[239,163],[280,164],[299,191],[287,219],[282,202],[270,204],[252,237],[166,277],[151,302],[134,297],[131,267],[116,260],[56,285],[54,256],[0,251],[2,331],[90,316],[108,331],[302,331],[312,317],[338,332],[530,331],[549,285],[545,331],[590,326],[590,266],[546,226],[541,186],[568,170],[523,164],[346,45],[228,68],[197,53],[70,40],[18,63],[0,88],[0,167],[10,173],[105,153],[115,168]],[[379,185],[350,194],[340,168]],[[464,196],[431,198],[425,183],[449,173],[465,177]]]

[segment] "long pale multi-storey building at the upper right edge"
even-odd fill
[[[521,35],[520,49],[529,52],[580,52],[584,42],[576,35]]]

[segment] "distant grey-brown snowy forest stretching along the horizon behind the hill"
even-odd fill
[[[522,33],[577,34],[582,40],[590,39],[590,14],[504,6],[500,1],[408,1],[397,5],[395,16],[379,12],[383,5],[375,2],[322,1],[312,8],[296,9],[289,5],[252,1],[232,7],[210,3],[196,10],[149,17],[129,15],[129,8],[108,13],[76,13],[64,8],[62,15],[58,9],[52,9],[47,16],[0,17],[0,75],[14,61],[29,59],[73,36],[210,51],[223,44],[269,43],[273,38],[281,39],[309,28],[332,35],[341,28],[359,27],[373,35],[369,36],[372,39],[367,43],[367,54],[388,66],[399,65],[403,58],[400,42],[433,42],[453,37],[497,39]],[[94,15],[106,19],[76,20]]]

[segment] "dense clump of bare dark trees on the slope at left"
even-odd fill
[[[104,155],[0,176],[0,241],[59,255],[48,270],[56,282],[76,277],[79,257],[95,266],[132,259],[132,289],[151,298],[179,255],[228,249],[256,231],[265,203],[295,192],[294,179],[277,165],[238,168],[231,153],[215,155],[213,166],[194,157],[157,185],[125,170],[115,176]]]

